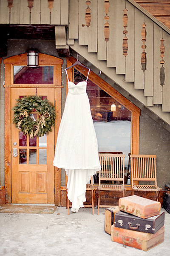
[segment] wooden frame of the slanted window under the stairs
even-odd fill
[[[70,58],[67,58],[67,67],[70,67],[74,62],[77,61],[76,58],[71,56]],[[74,66],[79,72],[81,72],[84,76],[87,77],[88,75],[88,69],[84,69],[83,67],[77,65]],[[68,79],[69,81],[73,81],[74,77],[74,68],[70,68],[67,70],[68,72]],[[116,99],[120,104],[125,106],[131,114],[131,154],[139,154],[139,117],[140,117],[140,109],[134,105],[132,102],[130,102],[128,99],[126,99],[121,93],[119,93],[117,90],[115,90],[110,84],[105,82],[101,77],[97,76],[92,70],[89,73],[88,79],[91,80],[94,84],[102,88],[106,93],[108,93],[111,97]],[[130,185],[131,186],[131,185]],[[130,189],[130,186],[127,185]]]

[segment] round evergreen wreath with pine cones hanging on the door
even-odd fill
[[[32,119],[31,112],[36,110],[39,118]],[[17,104],[13,108],[15,127],[21,129],[24,134],[30,137],[42,137],[51,130],[55,124],[55,108],[48,99],[42,99],[42,96],[24,96],[17,99]]]

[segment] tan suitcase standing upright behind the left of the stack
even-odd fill
[[[109,235],[111,235],[111,226],[114,224],[114,216],[116,212],[119,212],[118,206],[105,209],[105,232]]]

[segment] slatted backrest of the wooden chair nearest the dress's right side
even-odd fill
[[[125,155],[124,154],[99,154],[101,170],[99,171],[99,185],[101,180],[122,181],[124,185]]]

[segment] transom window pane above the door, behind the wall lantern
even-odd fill
[[[14,66],[14,84],[53,84],[53,66]]]

